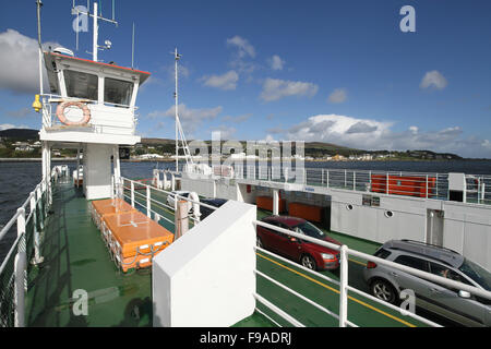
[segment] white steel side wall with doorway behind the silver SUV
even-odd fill
[[[491,269],[491,207],[366,194],[380,197],[380,207],[363,206],[363,193],[333,190],[331,230],[379,243],[391,239],[427,242],[430,233],[428,219],[431,219],[428,209],[439,210],[443,219],[442,245]]]

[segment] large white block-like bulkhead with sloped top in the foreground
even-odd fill
[[[227,327],[252,315],[255,217],[255,206],[229,201],[154,258],[154,326]]]

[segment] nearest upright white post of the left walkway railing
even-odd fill
[[[17,238],[24,236],[25,241],[25,209],[23,207],[17,208]],[[22,238],[19,239],[17,253],[15,255],[14,275],[15,275],[15,290],[14,290],[14,325],[15,327],[24,327],[25,318],[25,291],[26,291],[26,253],[20,251],[22,248]]]

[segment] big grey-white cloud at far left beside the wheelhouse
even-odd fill
[[[56,43],[43,44],[43,47],[59,47]],[[21,94],[39,92],[37,39],[22,35],[17,31],[7,29],[0,33],[0,89]],[[49,92],[46,69],[43,67],[44,88]]]

